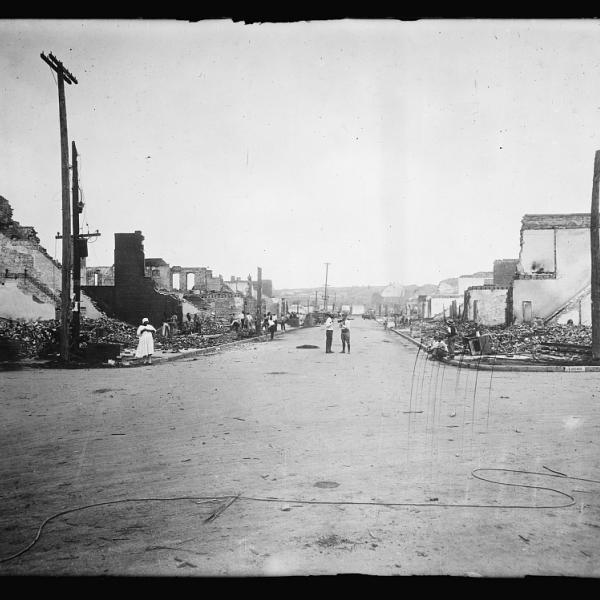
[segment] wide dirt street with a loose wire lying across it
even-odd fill
[[[598,374],[458,370],[351,325],[351,354],[316,327],[0,373],[0,558],[83,507],[0,574],[599,576]]]

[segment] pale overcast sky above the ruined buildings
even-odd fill
[[[590,210],[591,20],[0,21],[0,195],[61,258],[52,52],[88,265],[147,258],[276,288],[437,283],[517,258],[526,213]]]

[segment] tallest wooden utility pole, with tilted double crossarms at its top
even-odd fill
[[[58,117],[60,121],[60,157],[62,177],[62,287],[60,293],[60,357],[69,360],[69,309],[71,304],[71,214],[69,194],[69,139],[67,135],[67,108],[65,81],[77,84],[77,79],[50,53],[40,54],[42,60],[57,74]]]

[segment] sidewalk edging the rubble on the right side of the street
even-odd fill
[[[425,344],[422,344],[408,333],[400,329],[391,328],[400,337],[408,342],[415,344],[421,350],[425,350]],[[461,369],[479,369],[484,371],[541,371],[541,372],[561,372],[561,373],[590,373],[600,372],[600,365],[543,365],[532,364],[531,357],[525,355],[508,356],[506,354],[471,356],[461,355],[461,358],[444,358],[445,364]]]

